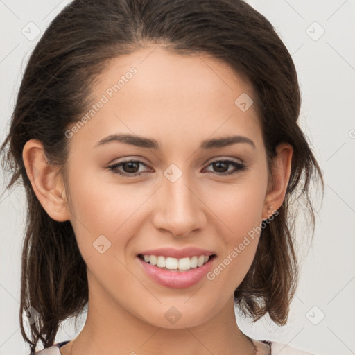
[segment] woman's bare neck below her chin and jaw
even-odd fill
[[[98,288],[94,292],[89,295],[83,330],[61,348],[63,355],[255,354],[252,340],[236,323],[234,297],[206,322],[193,327],[180,323],[179,329],[167,329],[144,322],[112,299],[104,300]]]

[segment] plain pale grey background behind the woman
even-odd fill
[[[1,141],[28,55],[67,3],[0,0]],[[321,208],[314,200],[319,213],[311,248],[299,223],[297,238],[304,257],[288,324],[276,327],[268,318],[255,324],[237,319],[242,330],[257,340],[277,340],[315,354],[355,354],[355,1],[248,3],[275,26],[293,56],[302,91],[300,121],[324,173],[326,189]],[[40,31],[37,37],[36,31]],[[1,196],[0,355],[28,354],[18,315],[25,212],[21,187]],[[82,326],[79,322],[75,329],[72,322],[65,322],[56,340],[73,338]]]

